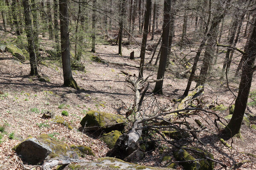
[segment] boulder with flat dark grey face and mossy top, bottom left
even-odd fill
[[[16,145],[15,150],[29,164],[39,164],[44,159],[78,159],[75,151],[68,144],[41,134],[38,138],[29,137]]]

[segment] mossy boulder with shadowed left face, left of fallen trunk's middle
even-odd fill
[[[126,118],[121,115],[104,113],[99,111],[88,111],[80,122],[82,127],[88,127],[88,130],[124,130]]]

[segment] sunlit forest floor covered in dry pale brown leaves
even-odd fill
[[[139,65],[140,49],[135,45],[123,47],[123,56],[117,55],[118,46],[97,45],[96,51],[97,54],[94,55],[99,55],[108,61]],[[131,51],[135,51],[135,60],[129,59]],[[150,53],[150,51],[147,51],[147,53]],[[68,145],[77,144],[91,147],[95,157],[88,156],[88,160],[106,156],[109,148],[99,139],[99,136],[91,135],[88,132],[78,133],[75,130],[69,130],[64,125],[51,124],[41,118],[44,111],[52,111],[56,115],[61,115],[61,112],[65,110],[69,113],[65,120],[75,129],[79,129],[79,122],[88,110],[125,115],[126,111],[122,106],[125,103],[128,107],[133,103],[134,93],[128,87],[128,83],[125,81],[126,77],[120,71],[138,75],[138,69],[94,62],[90,58],[91,54],[89,52],[86,54],[88,56],[83,59],[85,71],[72,71],[77,84],[83,88],[83,90],[77,91],[62,85],[62,68],[59,67],[59,62],[46,60],[44,65],[39,65],[40,74],[50,79],[49,82],[40,82],[37,77],[29,76],[29,61],[22,63],[12,57],[10,53],[0,53],[0,92],[3,92],[0,96],[0,125],[5,127],[2,133],[2,142],[0,143],[0,164],[8,165],[8,170],[19,169],[18,162],[20,160],[12,150],[12,147],[29,136],[37,137],[42,133],[51,134]],[[146,58],[148,57],[150,57],[149,54],[146,55]],[[146,62],[148,60],[146,59]],[[174,69],[171,68],[171,70]],[[225,80],[219,80],[216,75],[213,75],[218,72],[217,70],[218,65],[212,71],[212,77],[208,79],[203,99],[209,104],[214,100],[218,104],[229,107],[234,104],[235,98],[227,88]],[[153,74],[152,78],[156,79],[157,68],[146,69],[144,74],[145,76]],[[177,105],[171,104],[171,101],[182,96],[186,83],[187,79],[177,78],[174,76],[174,72],[167,71],[164,79],[164,95],[154,96],[162,105],[172,105],[174,110]],[[230,80],[230,88],[235,94],[238,92],[238,83],[238,78]],[[192,83],[191,89],[195,87],[195,84],[195,82]],[[148,91],[152,92],[153,88],[154,84],[150,84]],[[254,80],[251,91],[255,90],[256,81]],[[150,95],[152,96],[152,94],[148,93],[146,96]],[[251,102],[250,99],[249,102]],[[149,104],[150,98],[144,102],[144,108]],[[228,109],[217,112],[222,117],[229,114]],[[248,106],[246,113],[252,117],[250,119],[251,124],[256,124],[256,119],[254,119],[256,116],[255,109]],[[210,123],[207,125],[210,130],[209,132],[202,132],[198,136],[204,145],[196,142],[187,143],[188,145],[200,145],[201,148],[211,152],[216,160],[227,164],[228,167],[241,161],[250,161],[244,163],[238,169],[256,169],[255,129],[242,125],[242,139],[233,138],[228,140],[228,143],[232,143],[232,149],[228,149],[219,141],[218,130],[211,122],[211,119],[215,119],[213,116],[201,115],[192,117],[190,120],[192,124],[195,118],[200,119],[201,122],[207,120]],[[15,137],[14,139],[9,139],[9,134],[12,132]],[[162,145],[171,148],[165,142]],[[172,155],[171,149],[167,148],[163,153],[156,149],[153,152],[147,152],[144,159],[137,162],[148,166],[163,166],[164,164],[161,163],[161,160],[166,155]],[[177,169],[182,169],[182,167],[177,167]],[[215,164],[215,169],[221,169],[221,166]]]

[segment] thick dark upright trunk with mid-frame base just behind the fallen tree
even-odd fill
[[[159,61],[159,67],[157,72],[157,79],[162,79],[156,82],[153,93],[163,94],[163,78],[165,76],[165,65],[168,55],[168,43],[169,43],[169,33],[170,33],[170,23],[171,23],[171,0],[165,0],[164,4],[164,24],[163,24],[163,34],[162,34],[162,51]]]

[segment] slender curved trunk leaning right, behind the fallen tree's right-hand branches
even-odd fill
[[[194,63],[193,63],[193,66],[192,66],[192,70],[191,70],[191,73],[190,73],[190,76],[188,78],[188,84],[187,84],[187,87],[183,93],[182,96],[188,96],[188,91],[191,87],[191,83],[194,79],[194,75],[195,75],[195,71],[197,69],[197,62],[200,58],[200,55],[201,55],[201,52],[205,46],[205,43],[206,43],[206,40],[207,40],[207,34],[208,34],[208,29],[209,29],[209,24],[210,24],[210,20],[211,20],[211,15],[212,15],[212,0],[209,0],[209,8],[208,8],[208,19],[207,19],[207,23],[206,23],[206,27],[205,27],[205,30],[204,30],[204,37],[203,37],[203,40],[201,41],[200,43],[200,46],[197,50],[197,54],[194,58]]]

